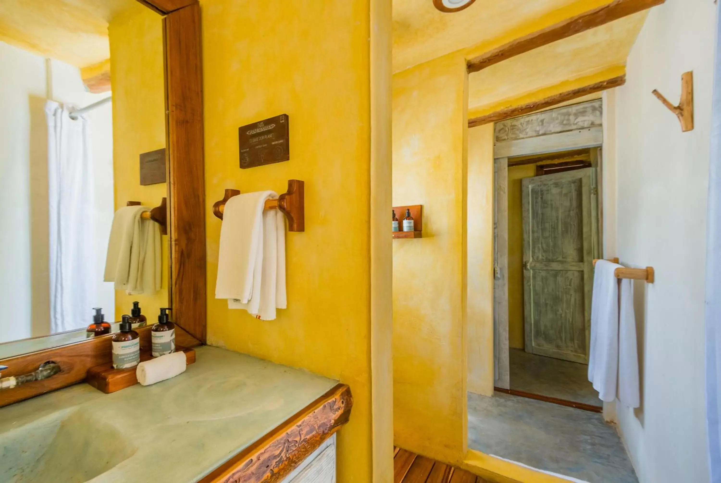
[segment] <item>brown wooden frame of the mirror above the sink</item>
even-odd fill
[[[205,162],[203,159],[203,64],[198,0],[138,0],[163,15],[165,135],[170,277],[177,345],[205,343]],[[150,326],[138,330],[141,347]],[[111,362],[110,335],[0,360],[2,377],[32,373],[45,361],[61,373],[0,391],[0,406],[83,381],[90,367]]]

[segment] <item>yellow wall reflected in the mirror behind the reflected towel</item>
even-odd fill
[[[110,34],[112,83],[112,154],[115,209],[127,201],[158,206],[167,196],[166,183],[140,184],[138,155],[165,147],[163,28],[160,15],[150,9],[113,19]],[[133,300],[141,303],[149,323],[168,305],[168,246],[162,237],[162,289],[155,295],[127,295],[115,291],[115,321],[130,313]]]

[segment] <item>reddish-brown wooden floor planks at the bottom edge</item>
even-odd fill
[[[394,448],[394,483],[488,483],[468,471]]]

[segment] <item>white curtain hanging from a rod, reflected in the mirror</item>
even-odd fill
[[[87,326],[97,282],[93,173],[87,120],[48,101],[50,330]]]

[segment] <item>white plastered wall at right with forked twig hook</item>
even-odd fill
[[[712,0],[655,7],[629,56],[626,85],[606,99],[615,97],[608,126],[615,125],[617,193],[616,239],[604,243],[616,253],[606,256],[655,268],[654,284],[634,285],[641,407],[616,407],[641,483],[709,481],[704,264],[715,9]],[[651,91],[678,102],[690,70],[696,128],[682,133]]]

